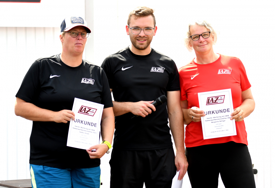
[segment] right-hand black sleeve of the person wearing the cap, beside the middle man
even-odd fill
[[[101,104],[104,108],[113,107],[112,95],[107,80],[107,76],[103,69],[101,69],[101,79],[102,79],[102,94],[101,94]]]

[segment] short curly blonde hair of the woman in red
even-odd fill
[[[213,37],[213,44],[216,44],[216,42],[217,42],[217,32],[213,29],[213,27],[211,27],[211,24],[210,23],[208,23],[207,21],[196,21],[195,23],[193,23],[193,24],[191,24],[191,23],[189,23],[189,25],[188,25],[188,31],[187,31],[187,33],[186,33],[186,37],[184,38],[184,45],[186,46],[186,48],[188,49],[188,51],[192,51],[193,50],[193,47],[191,47],[189,44],[190,44],[190,40],[192,40],[191,38],[190,38],[190,36],[191,36],[191,33],[190,33],[190,27],[191,26],[193,26],[193,25],[195,25],[195,24],[197,24],[197,25],[199,25],[199,26],[204,26],[204,27],[206,27],[207,29],[209,29],[210,30],[210,32],[211,32],[211,35],[212,35],[212,37]]]

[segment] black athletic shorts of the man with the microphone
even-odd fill
[[[129,151],[112,150],[111,188],[171,188],[177,168],[173,148]]]

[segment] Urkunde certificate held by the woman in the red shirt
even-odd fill
[[[237,135],[231,89],[198,93],[204,140]]]

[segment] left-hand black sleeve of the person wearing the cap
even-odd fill
[[[16,97],[34,103],[40,90],[39,70],[39,64],[35,61],[25,75]]]

